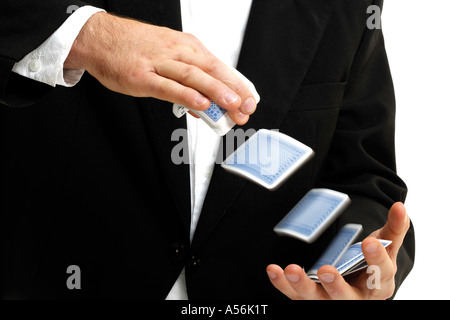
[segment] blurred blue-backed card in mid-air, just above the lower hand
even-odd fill
[[[350,198],[344,193],[312,189],[275,226],[274,231],[312,243],[349,204]]]

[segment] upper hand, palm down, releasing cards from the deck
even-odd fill
[[[64,68],[87,70],[119,93],[195,110],[211,99],[241,125],[256,109],[247,86],[194,36],[104,12],[84,25]]]

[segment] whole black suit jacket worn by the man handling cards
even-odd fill
[[[0,13],[3,297],[163,299],[186,267],[192,299],[281,298],[268,264],[307,269],[345,223],[361,223],[363,236],[384,225],[406,187],[395,168],[383,36],[366,27],[372,2],[381,5],[253,2],[238,69],[261,103],[243,129],[279,129],[316,155],[273,192],[216,165],[190,244],[189,169],[171,160],[180,143],[171,135],[186,128],[185,118],[175,118],[168,102],[111,92],[88,74],[73,88],[51,88],[11,73],[69,5],[83,3],[7,1]],[[181,29],[177,0],[86,3]],[[276,223],[314,187],[345,192],[352,204],[312,245],[277,236]],[[411,229],[397,285],[413,259]],[[81,290],[66,286],[70,265],[81,269]]]

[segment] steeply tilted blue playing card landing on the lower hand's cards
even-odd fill
[[[356,240],[362,231],[360,224],[346,224],[339,230],[327,249],[307,272],[310,278],[317,279],[317,271],[324,265],[335,266],[347,248]]]

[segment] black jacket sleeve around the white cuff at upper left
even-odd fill
[[[11,70],[55,32],[78,0],[5,0],[0,10],[0,103],[8,106],[32,104],[50,86],[26,79]]]

